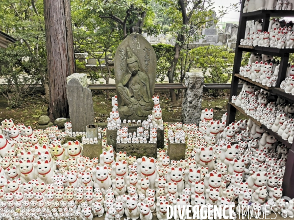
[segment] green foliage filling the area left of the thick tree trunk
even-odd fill
[[[0,92],[10,107],[19,106],[28,86],[47,84],[43,1],[1,0],[0,30],[18,41],[0,49]],[[33,89],[34,91],[34,89]]]

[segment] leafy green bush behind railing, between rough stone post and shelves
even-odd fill
[[[232,76],[234,53],[222,46],[202,46],[193,49],[196,67],[201,68],[205,83],[227,83]]]

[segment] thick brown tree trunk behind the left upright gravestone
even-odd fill
[[[50,120],[69,118],[66,77],[75,72],[70,0],[44,0]]]

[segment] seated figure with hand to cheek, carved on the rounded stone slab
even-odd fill
[[[125,74],[117,85],[121,98],[118,111],[121,119],[146,119],[154,106],[150,92],[149,78],[140,71],[140,62],[129,47],[126,48]]]

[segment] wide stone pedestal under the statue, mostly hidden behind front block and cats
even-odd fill
[[[137,132],[137,128],[139,126],[131,126],[128,127],[128,133],[131,132]],[[106,136],[107,136],[107,144],[108,145],[112,145],[114,149],[117,149],[117,143],[116,143],[116,139],[117,139],[117,129],[116,130],[107,130],[106,131]],[[149,130],[149,134],[150,134],[150,130]],[[157,147],[158,148],[164,148],[164,130],[157,130]],[[116,150],[118,151],[118,150]]]

